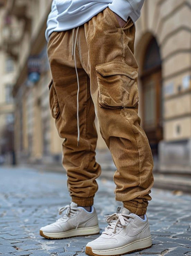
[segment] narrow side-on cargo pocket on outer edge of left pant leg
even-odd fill
[[[52,80],[48,85],[48,89],[49,89],[49,104],[51,108],[52,117],[56,119],[59,116],[60,108],[58,104],[58,97],[57,97],[56,90],[54,88]]]

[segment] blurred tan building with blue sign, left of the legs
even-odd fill
[[[14,148],[18,163],[54,161],[61,153],[61,140],[49,111],[51,76],[44,38],[51,2],[7,0],[1,8],[3,51],[15,63]]]

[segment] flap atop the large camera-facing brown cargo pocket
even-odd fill
[[[96,66],[96,71],[102,76],[125,75],[131,79],[138,77],[138,68],[129,66],[124,62],[107,62]]]

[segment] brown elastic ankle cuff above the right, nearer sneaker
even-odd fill
[[[137,215],[144,215],[147,212],[148,202],[138,203],[136,201],[125,201],[123,202],[123,206],[127,208],[131,213]]]

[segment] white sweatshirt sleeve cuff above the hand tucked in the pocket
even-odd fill
[[[114,0],[111,4],[108,4],[108,7],[124,21],[127,21],[129,15],[133,12],[133,8],[127,0]]]

